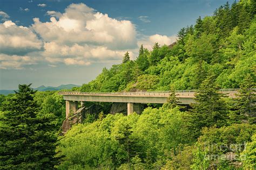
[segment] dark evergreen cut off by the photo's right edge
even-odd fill
[[[245,80],[241,83],[239,98],[237,98],[240,115],[248,116],[251,123],[256,121],[256,95],[253,88],[255,88],[255,79],[251,74],[247,74]]]

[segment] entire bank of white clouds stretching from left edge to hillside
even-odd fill
[[[49,67],[58,63],[87,66],[120,61],[126,51],[134,59],[140,44],[151,48],[154,42],[169,45],[174,40],[159,34],[138,40],[136,26],[130,20],[111,18],[83,3],[70,4],[63,13],[47,11],[46,15],[49,22],[33,18],[33,24],[24,27],[6,20],[9,16],[0,11],[4,18],[0,23],[1,69],[22,69],[39,62]],[[149,22],[146,16],[140,19]]]

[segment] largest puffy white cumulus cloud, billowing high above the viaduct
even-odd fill
[[[64,13],[48,11],[50,22],[34,18],[33,29],[44,41],[91,44],[110,49],[135,48],[136,29],[129,20],[116,20],[85,4],[71,4]],[[65,36],[64,36],[65,35]]]

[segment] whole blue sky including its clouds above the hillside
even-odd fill
[[[0,89],[93,80],[138,46],[171,44],[226,0],[0,0]],[[1,44],[2,43],[2,44]]]

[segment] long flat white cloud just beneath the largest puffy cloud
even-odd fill
[[[113,51],[104,46],[78,44],[68,46],[57,44],[56,42],[45,42],[44,49],[45,51],[42,52],[42,56],[44,56],[44,58],[50,63],[64,62],[66,64],[69,63],[69,65],[72,63],[79,63],[79,65],[90,65],[91,63],[106,62],[107,60],[121,60],[122,56],[126,52]],[[130,51],[130,55],[133,57],[132,51]]]

